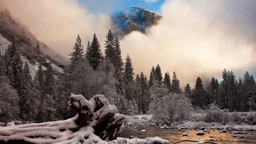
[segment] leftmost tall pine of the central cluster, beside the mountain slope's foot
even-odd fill
[[[68,54],[69,56],[71,56],[71,58],[69,58],[68,60],[70,60],[69,62],[72,64],[74,64],[75,62],[81,61],[84,58],[84,48],[83,45],[81,44],[81,38],[78,35],[76,38],[76,43],[75,46],[73,47],[73,52],[71,52],[70,54]]]

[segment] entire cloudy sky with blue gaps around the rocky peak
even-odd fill
[[[109,15],[130,6],[164,15],[148,34],[132,32],[120,40],[123,60],[132,59],[135,74],[149,78],[152,66],[175,71],[180,86],[221,80],[224,69],[236,79],[256,74],[255,0],[0,0],[12,17],[28,26],[37,39],[68,57],[79,34],[86,48],[93,34],[104,53],[111,26]]]

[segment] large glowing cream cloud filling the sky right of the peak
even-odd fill
[[[212,76],[220,80],[224,68],[236,78],[246,71],[255,74],[256,25],[253,15],[246,15],[255,9],[238,3],[232,10],[227,7],[227,1],[166,1],[164,18],[148,35],[132,32],[121,40],[123,55],[129,53],[137,74],[143,71],[149,77],[157,64],[163,75],[175,71],[181,86],[194,87],[198,76],[203,81]]]

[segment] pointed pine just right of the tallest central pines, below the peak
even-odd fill
[[[135,75],[133,72],[133,66],[132,66],[132,60],[129,56],[129,54],[125,58],[125,64],[124,64],[124,83],[128,84],[133,82],[133,76]]]

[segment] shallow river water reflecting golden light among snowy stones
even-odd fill
[[[197,132],[195,130],[182,130],[178,131],[177,129],[160,129],[160,127],[151,126],[151,128],[147,128],[147,132],[140,132],[143,130],[142,128],[134,128],[134,126],[128,126],[123,129],[123,132],[118,136],[122,138],[130,138],[134,136],[134,138],[145,139],[146,137],[160,137],[165,140],[169,140],[170,143],[174,143],[179,140],[202,140],[202,141],[212,141],[219,144],[255,144],[256,143],[256,131],[247,131],[248,134],[234,134],[232,133],[220,133],[220,131],[212,131],[210,133],[205,132],[204,135],[199,136],[196,135]],[[153,130],[154,129],[154,130]],[[137,130],[137,132],[134,132]],[[182,136],[183,133],[187,133],[188,136]],[[238,137],[233,137],[233,135],[237,135]],[[243,135],[244,138],[239,138],[240,135]],[[213,138],[209,138],[209,136],[213,136]],[[180,142],[180,144],[194,144],[195,142]]]

